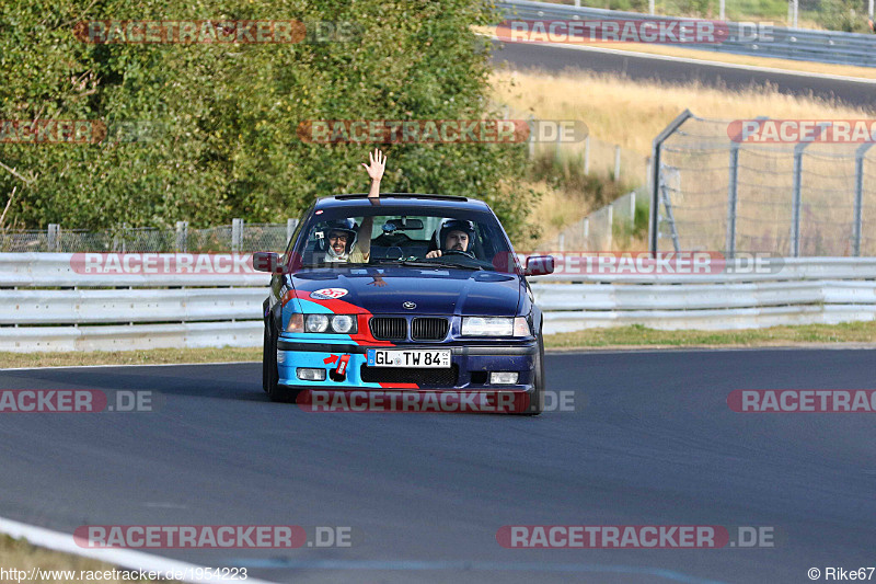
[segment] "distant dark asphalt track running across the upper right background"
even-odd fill
[[[517,69],[538,68],[553,72],[583,69],[623,75],[635,80],[658,80],[667,83],[699,81],[706,87],[734,90],[770,84],[780,93],[788,95],[814,95],[869,110],[876,107],[876,80],[858,82],[722,64],[660,59],[658,56],[634,55],[629,51],[604,53],[495,41],[493,60]]]

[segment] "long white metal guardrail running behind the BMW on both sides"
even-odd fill
[[[0,253],[0,351],[262,344],[266,274],[81,274],[73,255]],[[876,257],[802,257],[759,273],[561,272],[532,278],[532,290],[549,334],[625,324],[728,330],[873,320],[874,280]]]

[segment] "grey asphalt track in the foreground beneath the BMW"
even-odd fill
[[[741,414],[734,389],[872,389],[872,350],[549,353],[574,413],[307,413],[258,364],[0,371],[159,391],[154,413],[0,414],[0,516],[350,526],[341,549],[166,550],[275,582],[809,582],[874,565],[874,414]],[[510,550],[504,525],[770,526],[759,549]],[[9,568],[9,566],[7,566]]]

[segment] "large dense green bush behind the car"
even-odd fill
[[[365,192],[369,145],[304,144],[307,119],[454,119],[488,111],[491,20],[479,0],[20,0],[0,4],[0,119],[136,122],[152,141],[0,144],[0,194],[19,225],[102,229],[281,221],[315,196]],[[359,43],[93,45],[90,20],[350,21]],[[374,145],[370,145],[373,148]],[[502,187],[525,147],[395,145],[383,191],[489,201],[511,236],[526,197]],[[2,197],[0,197],[2,198]],[[9,220],[9,219],[8,219]]]

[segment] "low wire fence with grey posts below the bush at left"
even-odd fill
[[[286,249],[298,219],[286,224],[247,224],[193,229],[177,221],[174,229],[122,227],[104,231],[64,229],[0,230],[0,252],[210,252],[278,251]]]

